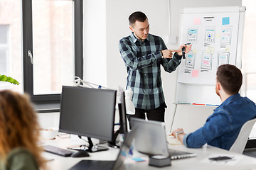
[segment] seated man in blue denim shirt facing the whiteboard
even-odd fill
[[[180,128],[172,132],[186,147],[198,148],[207,143],[229,150],[242,125],[256,117],[255,103],[238,94],[242,85],[240,69],[224,64],[218,67],[216,75],[215,90],[222,104],[208,117],[205,125],[195,132],[185,134]]]

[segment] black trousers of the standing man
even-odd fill
[[[141,118],[141,119],[147,118],[148,120],[164,122],[165,108],[167,108],[166,103],[161,104],[159,108],[154,108],[151,110],[135,108],[135,115],[127,115],[130,129],[132,129],[132,126],[130,123],[131,118]],[[146,113],[146,116],[145,116],[145,113]]]

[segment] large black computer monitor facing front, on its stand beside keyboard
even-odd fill
[[[60,132],[88,137],[89,152],[107,149],[93,146],[90,137],[112,140],[116,94],[115,90],[63,86]]]

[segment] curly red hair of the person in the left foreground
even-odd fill
[[[41,169],[46,169],[46,160],[41,157],[38,146],[40,136],[37,115],[26,94],[0,91],[0,158],[16,147],[28,149]]]

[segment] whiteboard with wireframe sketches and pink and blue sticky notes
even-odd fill
[[[180,44],[191,43],[178,67],[176,103],[220,104],[215,74],[221,64],[241,67],[245,6],[183,8]]]

